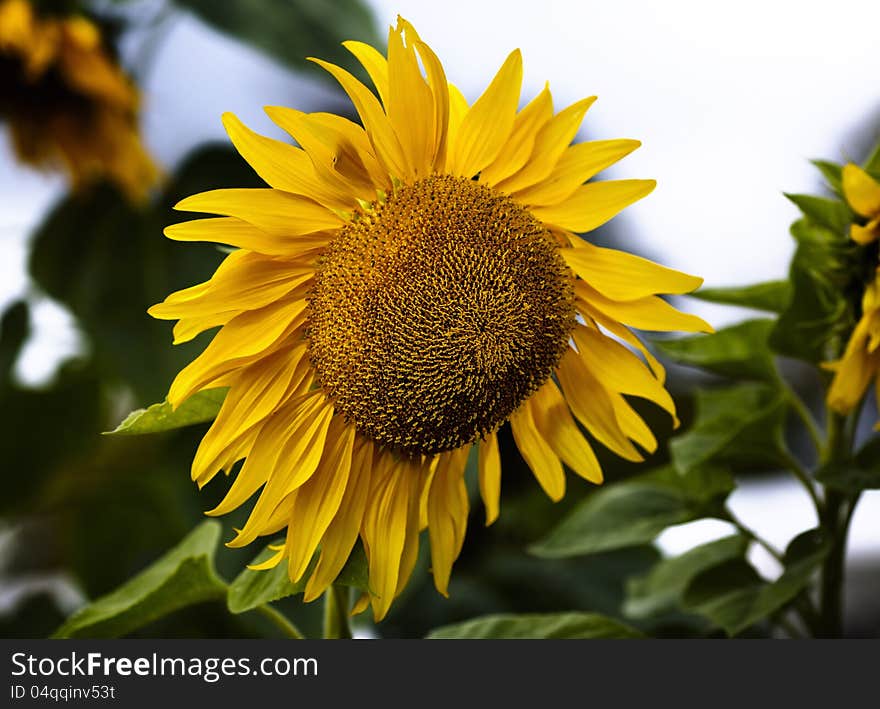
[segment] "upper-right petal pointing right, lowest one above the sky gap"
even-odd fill
[[[654,180],[608,180],[578,187],[565,201],[533,207],[538,219],[569,231],[583,233],[602,226],[633,202],[649,194]]]

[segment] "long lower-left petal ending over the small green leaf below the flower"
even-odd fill
[[[288,535],[290,579],[302,578],[309,562],[342,503],[351,471],[354,426],[335,417],[327,433],[327,446],[314,474],[299,488],[291,513]]]

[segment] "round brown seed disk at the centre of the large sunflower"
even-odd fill
[[[311,359],[337,412],[407,455],[497,429],[558,363],[571,275],[509,197],[432,176],[342,228],[310,296]]]

